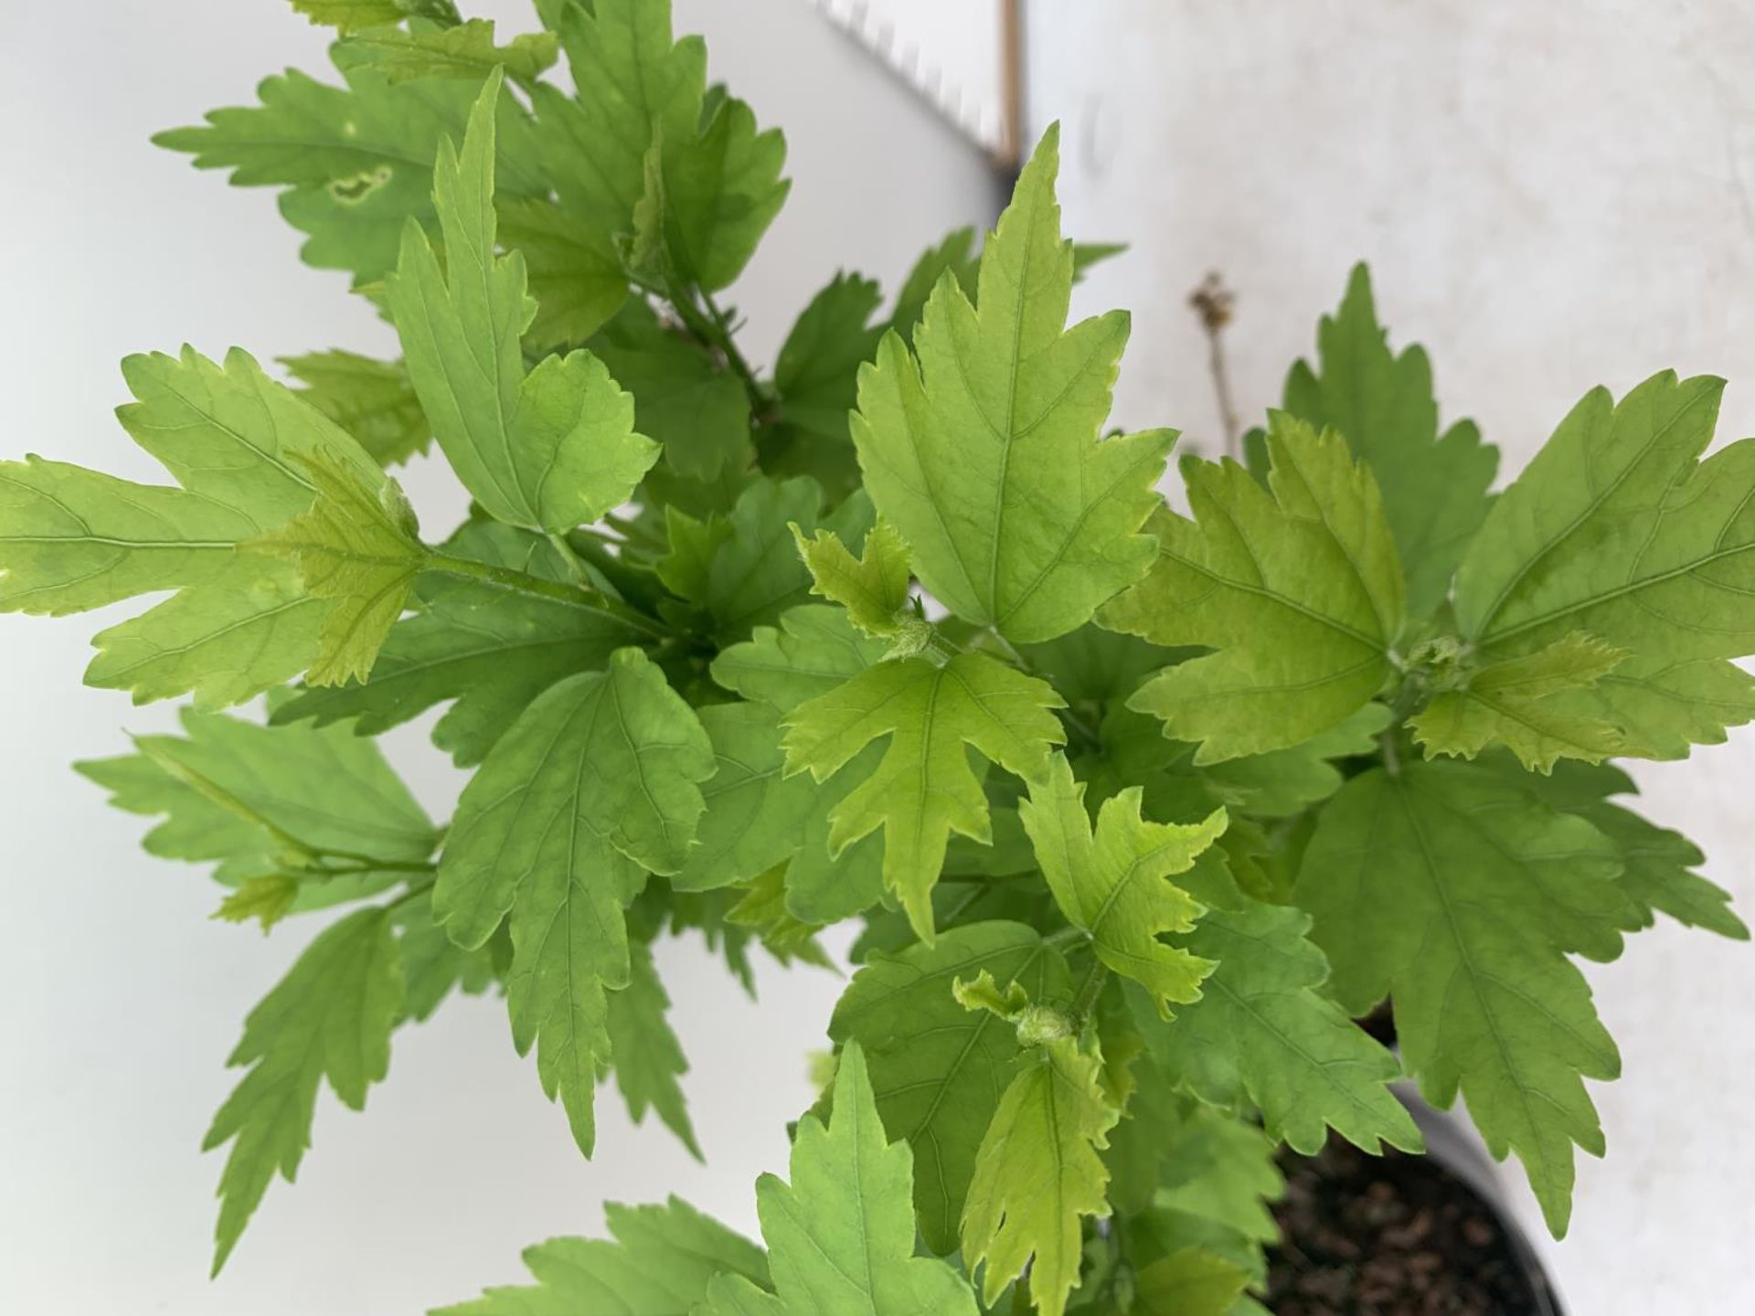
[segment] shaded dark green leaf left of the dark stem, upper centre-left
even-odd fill
[[[653,309],[628,302],[591,349],[634,395],[634,423],[663,444],[665,463],[688,479],[714,481],[749,465],[749,395],[737,375]]]

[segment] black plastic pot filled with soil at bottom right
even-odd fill
[[[1397,1095],[1425,1134],[1425,1156],[1392,1151],[1378,1160],[1339,1141],[1314,1158],[1283,1156],[1288,1200],[1278,1214],[1286,1237],[1272,1249],[1269,1307],[1453,1311],[1423,1302],[1427,1288],[1455,1286],[1474,1291],[1465,1311],[1564,1316],[1465,1116]]]

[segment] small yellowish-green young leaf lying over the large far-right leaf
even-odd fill
[[[1474,758],[1497,742],[1530,772],[1551,772],[1560,758],[1601,763],[1620,749],[1620,732],[1551,697],[1588,690],[1625,656],[1625,649],[1574,630],[1546,649],[1479,669],[1462,690],[1434,695],[1408,726],[1427,758]]]

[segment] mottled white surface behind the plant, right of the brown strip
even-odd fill
[[[1186,293],[1209,268],[1237,288],[1228,356],[1258,416],[1365,258],[1393,339],[1429,347],[1444,416],[1474,416],[1506,477],[1588,388],[1664,367],[1727,375],[1720,439],[1755,433],[1755,5],[1039,0],[1030,19],[1067,226],[1134,244],[1076,304],[1134,309],[1120,421],[1213,454]],[[1755,728],[1636,776],[1755,912]],[[1581,1158],[1562,1291],[1581,1316],[1746,1311],[1755,951],[1662,923],[1588,972],[1625,1077],[1594,1086],[1609,1155]]]

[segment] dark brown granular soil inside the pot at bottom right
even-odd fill
[[[1285,1153],[1274,1316],[1546,1316],[1532,1277],[1472,1188],[1425,1156],[1330,1139]]]

